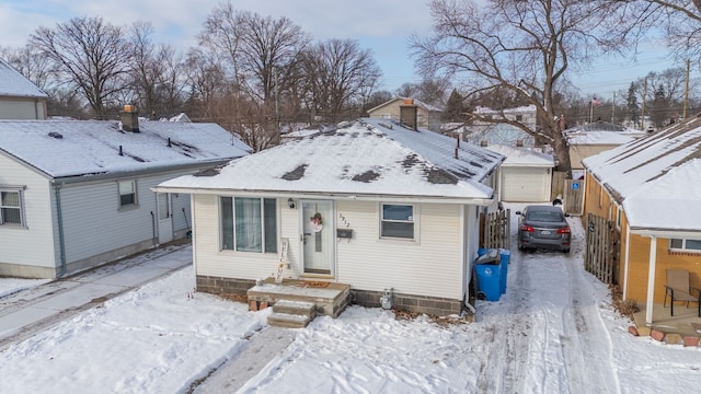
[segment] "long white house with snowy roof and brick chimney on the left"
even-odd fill
[[[189,197],[150,187],[249,154],[214,124],[0,120],[0,275],[56,278],[182,239]]]

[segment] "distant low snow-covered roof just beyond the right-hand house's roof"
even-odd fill
[[[594,121],[562,131],[570,144],[623,144],[646,136],[645,131],[608,121]]]

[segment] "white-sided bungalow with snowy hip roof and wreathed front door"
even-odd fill
[[[449,314],[468,300],[479,215],[496,207],[503,159],[363,119],[154,190],[192,194],[199,291],[245,294],[286,251],[288,278],[350,285],[368,306],[392,289],[397,308]]]

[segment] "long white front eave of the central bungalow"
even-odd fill
[[[235,195],[254,196],[267,198],[294,198],[294,199],[333,199],[333,200],[357,200],[357,201],[397,201],[397,202],[424,202],[424,204],[459,204],[491,206],[495,202],[493,198],[471,198],[471,197],[436,197],[436,196],[407,196],[407,195],[379,195],[379,194],[352,194],[352,193],[327,193],[327,192],[292,192],[292,190],[241,190],[230,188],[189,188],[189,187],[168,187],[156,186],[151,190],[156,193],[183,193],[200,195]]]

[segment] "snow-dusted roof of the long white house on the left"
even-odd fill
[[[251,151],[216,124],[141,121],[139,130],[122,131],[116,120],[0,120],[0,152],[56,178],[221,162]]]

